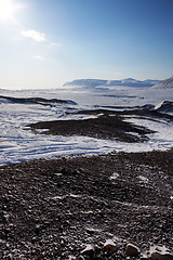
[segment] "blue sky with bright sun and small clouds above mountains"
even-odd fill
[[[173,0],[0,0],[0,88],[173,75]]]

